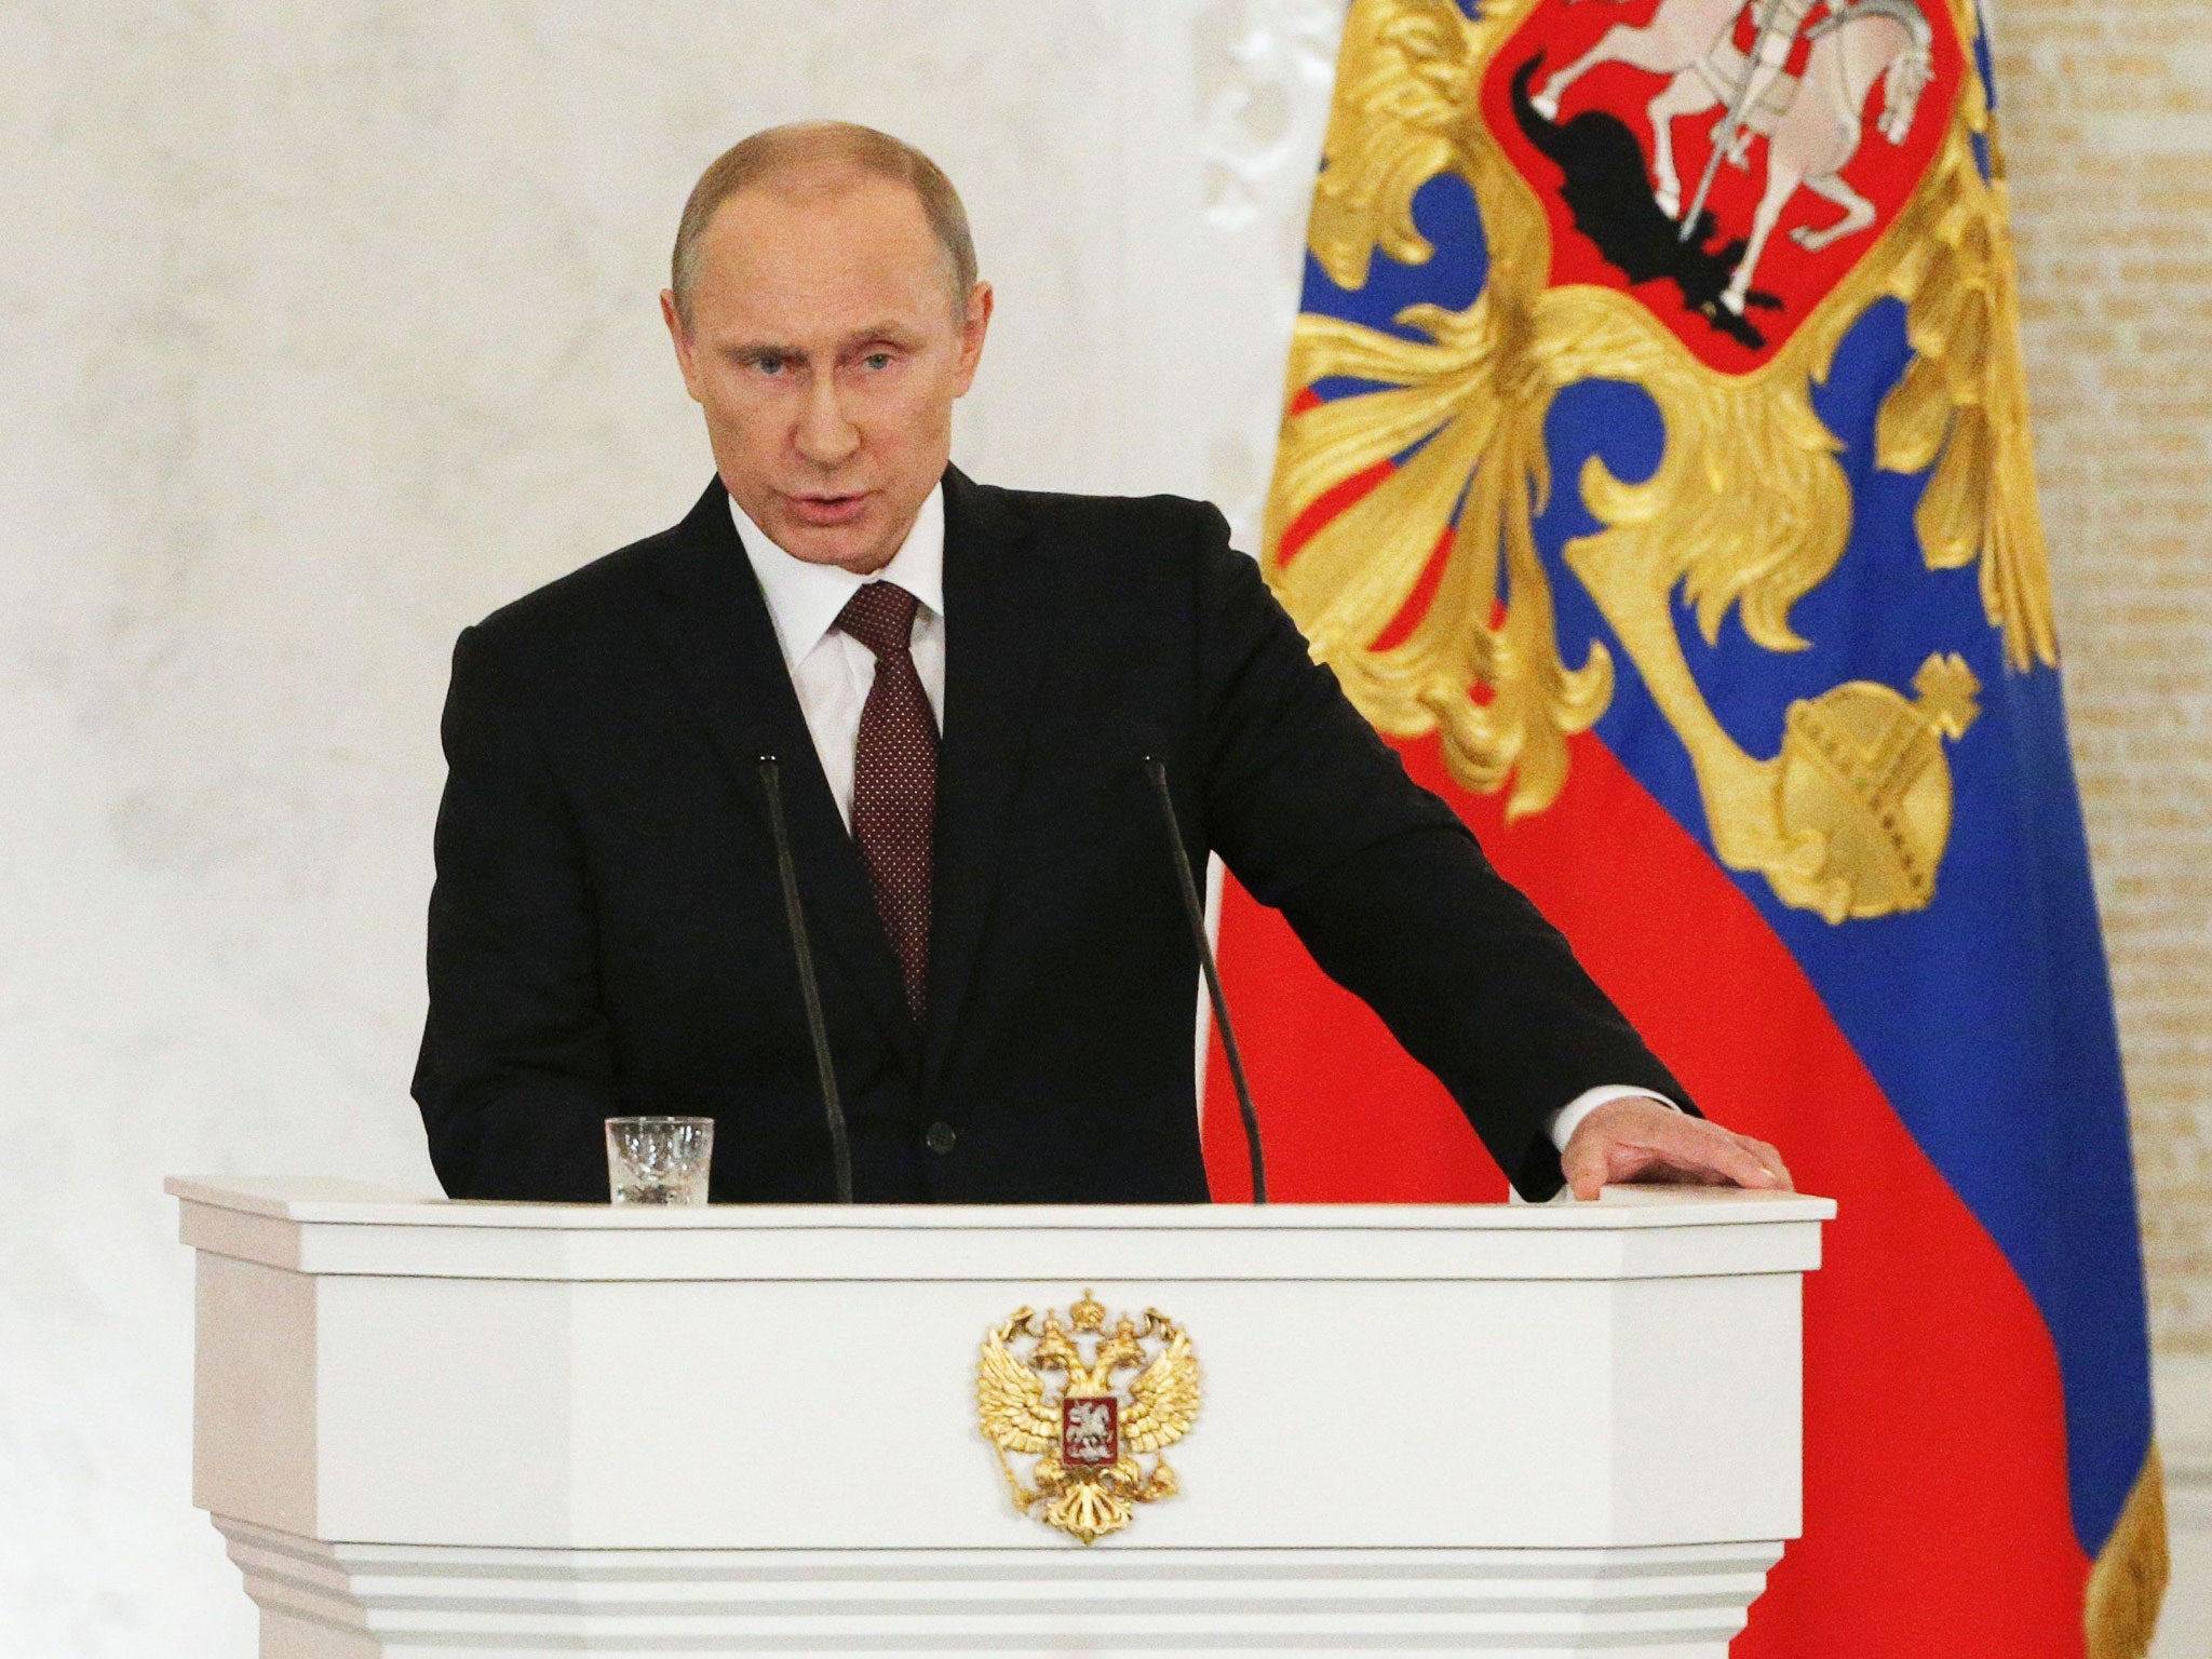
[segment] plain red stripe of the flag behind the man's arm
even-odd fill
[[[1595,737],[1573,739],[1566,792],[1520,827],[1447,779],[1433,739],[1402,752],[1699,1104],[1840,1201],[1805,1281],[1805,1537],[1734,1655],[2079,1655],[2088,1562],[2051,1336],[1790,951]],[[1442,1088],[1234,883],[1221,960],[1283,1199],[1504,1197]],[[1219,1055],[1206,1097],[1230,1099]],[[1234,1110],[1208,1110],[1206,1150],[1214,1192],[1248,1197]]]

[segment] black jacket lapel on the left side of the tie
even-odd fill
[[[761,803],[761,757],[779,759],[807,927],[836,951],[911,1071],[920,1060],[920,1037],[907,1013],[898,958],[876,916],[860,847],[845,830],[814,754],[814,737],[799,712],[799,692],[783,666],[768,599],[730,522],[721,480],[708,487],[664,544],[650,619],[745,801]],[[765,803],[759,810],[765,834]]]

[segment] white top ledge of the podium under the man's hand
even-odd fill
[[[173,1177],[184,1241],[307,1274],[438,1279],[1650,1279],[1807,1272],[1832,1199],[1608,1188],[1597,1203],[743,1206],[425,1199]]]

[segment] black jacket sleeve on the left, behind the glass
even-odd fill
[[[575,816],[476,630],[453,648],[414,1097],[456,1199],[606,1199],[619,1110]]]

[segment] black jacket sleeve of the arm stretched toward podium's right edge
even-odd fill
[[[1228,544],[1197,531],[1206,823],[1237,880],[1451,1091],[1528,1199],[1562,1186],[1546,1135],[1586,1088],[1694,1110],[1566,938],[1416,785]]]

